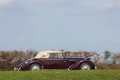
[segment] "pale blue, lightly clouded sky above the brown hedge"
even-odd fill
[[[0,0],[0,50],[120,52],[120,0]]]

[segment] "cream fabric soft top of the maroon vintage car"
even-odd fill
[[[42,52],[39,52],[35,58],[49,58],[50,53],[62,53],[62,51],[53,51],[53,50],[42,51]]]

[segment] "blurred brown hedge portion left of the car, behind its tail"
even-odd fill
[[[34,57],[38,52],[34,50],[27,51],[0,51],[0,70],[13,70],[21,62]]]

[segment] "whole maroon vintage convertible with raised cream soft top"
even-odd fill
[[[91,70],[95,65],[90,58],[65,58],[62,51],[43,51],[26,60],[14,70],[68,69]]]

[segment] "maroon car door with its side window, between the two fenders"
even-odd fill
[[[60,53],[51,53],[49,59],[45,60],[46,69],[67,69],[70,66],[68,59]]]

